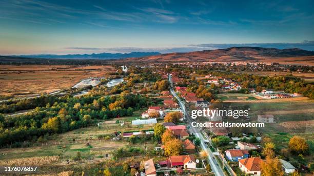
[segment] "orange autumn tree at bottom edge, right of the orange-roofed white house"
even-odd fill
[[[261,163],[261,172],[264,176],[283,176],[281,162],[277,158],[267,157],[264,162]]]

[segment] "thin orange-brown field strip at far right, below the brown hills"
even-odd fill
[[[279,71],[242,71],[241,73],[246,74],[257,74],[260,76],[273,76],[273,75],[281,75],[285,76],[287,75],[287,72],[279,72]],[[293,76],[300,77],[301,79],[304,79],[305,81],[312,82],[314,81],[314,73],[299,73],[299,72],[292,72]]]

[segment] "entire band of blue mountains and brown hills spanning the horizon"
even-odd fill
[[[231,47],[217,50],[194,52],[159,52],[100,53],[100,54],[67,54],[67,55],[15,55],[0,56],[0,64],[8,63],[64,63],[102,64],[114,59],[115,63],[158,63],[158,62],[265,62],[281,64],[298,64],[314,66],[314,51],[298,48],[276,49],[261,47]]]

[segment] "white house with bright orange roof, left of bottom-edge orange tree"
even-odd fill
[[[239,160],[239,168],[242,172],[261,176],[261,163],[263,161],[258,157]]]

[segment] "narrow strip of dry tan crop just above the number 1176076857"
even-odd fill
[[[0,160],[0,166],[40,166],[50,164],[58,160],[59,157],[57,156]]]

